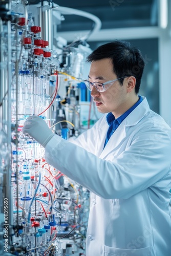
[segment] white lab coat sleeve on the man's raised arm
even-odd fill
[[[46,160],[60,172],[105,198],[127,199],[170,172],[170,135],[158,127],[136,133],[117,157],[103,160],[69,141],[54,136]]]

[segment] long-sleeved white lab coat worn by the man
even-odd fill
[[[106,114],[73,144],[54,136],[46,160],[91,193],[87,256],[170,256],[171,129],[146,98],[104,150]]]

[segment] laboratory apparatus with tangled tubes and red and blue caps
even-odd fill
[[[70,44],[65,38],[54,38],[56,24],[65,18],[63,12],[74,11],[52,1],[33,5],[0,0],[2,255],[85,251],[89,191],[50,166],[44,148],[22,133],[30,115],[45,119],[63,139],[77,137],[90,127],[90,116],[83,111],[81,117],[81,104],[91,105],[82,82],[88,72],[90,33]],[[75,12],[94,19],[91,33],[100,28],[93,15]]]

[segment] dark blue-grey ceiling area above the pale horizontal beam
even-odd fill
[[[89,12],[97,16],[102,23],[101,29],[144,27],[157,25],[158,0],[87,0],[63,1],[53,3],[68,8]],[[30,0],[30,4],[40,3]],[[58,32],[91,30],[92,20],[78,15],[64,15],[58,26]]]

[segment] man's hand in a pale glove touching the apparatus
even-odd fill
[[[23,133],[29,134],[43,147],[46,146],[48,141],[55,135],[47,123],[38,116],[29,116],[24,123]]]

